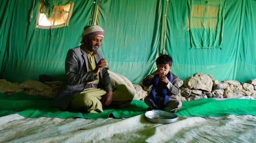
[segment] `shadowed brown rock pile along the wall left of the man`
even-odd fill
[[[25,92],[31,95],[41,95],[44,97],[54,97],[61,86],[61,81],[40,82],[36,80],[26,80],[25,82],[11,83],[6,80],[0,80],[0,92],[5,94],[14,94]]]

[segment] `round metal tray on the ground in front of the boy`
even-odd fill
[[[152,111],[147,111],[145,113],[145,118],[149,122],[160,123],[160,124],[173,123],[173,122],[177,121],[177,119],[179,117],[179,116],[175,115],[174,113],[170,113],[170,112],[166,112],[166,111],[160,111],[159,119],[153,119],[152,115],[153,115]]]

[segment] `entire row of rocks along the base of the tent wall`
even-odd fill
[[[25,92],[31,95],[41,95],[53,97],[59,91],[61,81],[26,80],[25,82],[11,83],[6,80],[0,80],[0,92],[5,94],[14,94]],[[134,99],[144,100],[149,94],[150,87],[144,87],[140,84],[133,84],[136,89]],[[181,101],[197,100],[201,98],[236,98],[242,96],[251,96],[256,98],[256,78],[240,83],[236,80],[223,80],[219,82],[214,80],[212,75],[204,73],[195,73],[188,77],[184,83],[179,80],[180,92],[176,96]]]

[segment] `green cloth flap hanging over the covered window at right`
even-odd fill
[[[188,0],[188,9],[192,48],[221,48],[225,1]]]

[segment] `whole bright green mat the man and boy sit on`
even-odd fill
[[[17,113],[24,117],[58,117],[58,118],[108,118],[113,114],[116,118],[133,117],[146,112],[147,105],[144,101],[133,100],[131,105],[124,109],[104,108],[102,113],[87,113],[83,111],[62,111],[51,107],[51,98],[16,93],[6,95],[0,93],[0,116]],[[182,102],[182,108],[175,113],[178,116],[224,116],[226,114],[256,116],[256,100],[251,99],[228,99],[216,101],[214,98],[200,99]]]

